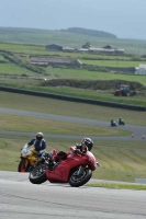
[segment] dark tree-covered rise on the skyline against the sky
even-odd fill
[[[88,30],[88,28],[80,28],[80,27],[69,27],[67,30],[60,30],[64,32],[69,32],[74,34],[82,34],[88,36],[96,36],[96,37],[104,37],[104,38],[117,38],[114,34],[103,32],[103,31],[94,31],[94,30]]]

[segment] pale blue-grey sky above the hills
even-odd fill
[[[0,26],[82,27],[146,39],[146,0],[0,0]]]

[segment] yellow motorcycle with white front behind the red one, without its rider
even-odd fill
[[[34,148],[29,148],[25,145],[21,150],[20,163],[18,166],[19,172],[30,172],[35,165],[38,164],[40,158],[37,158],[37,151]]]

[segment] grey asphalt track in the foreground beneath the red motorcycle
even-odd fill
[[[146,192],[33,185],[29,173],[0,171],[0,219],[145,219]]]

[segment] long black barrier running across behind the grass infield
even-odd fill
[[[113,102],[106,102],[106,101],[80,99],[80,97],[74,97],[74,96],[67,96],[67,95],[60,95],[60,94],[54,94],[54,93],[37,92],[37,91],[32,91],[32,90],[14,89],[14,88],[8,88],[8,87],[0,87],[0,91],[12,92],[12,93],[23,93],[23,94],[29,94],[29,95],[44,96],[44,97],[79,102],[79,103],[89,103],[89,104],[93,104],[93,105],[102,105],[102,106],[125,108],[125,110],[132,110],[132,111],[146,111],[145,106],[139,106],[139,105],[128,105],[128,104],[113,103]]]

